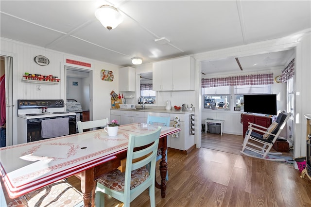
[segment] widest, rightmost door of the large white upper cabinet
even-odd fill
[[[173,60],[173,91],[194,90],[194,59],[190,57]]]

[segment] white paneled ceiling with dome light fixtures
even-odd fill
[[[111,31],[94,16],[104,4],[115,5],[124,16]],[[0,1],[1,37],[120,66],[132,66],[134,56],[151,63],[310,32],[310,28],[310,0]],[[155,43],[161,37],[170,44]],[[288,52],[281,52],[239,60],[248,70],[259,62],[284,64],[287,56]],[[202,66],[202,72],[209,73],[232,70],[237,63],[231,58]]]

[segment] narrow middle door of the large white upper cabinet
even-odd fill
[[[173,61],[162,62],[162,91],[173,90]]]

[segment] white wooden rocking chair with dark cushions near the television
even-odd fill
[[[282,129],[285,127],[287,120],[291,116],[291,113],[287,113],[285,111],[279,113],[277,116],[276,122],[272,122],[270,127],[262,127],[253,123],[248,123],[248,130],[245,134],[245,139],[243,142],[243,148],[241,153],[243,155],[266,159],[271,161],[284,161],[285,159],[270,159],[268,158],[268,154],[270,155],[281,155],[280,152],[271,153],[270,150],[276,140],[282,140],[279,138],[279,134]],[[257,127],[257,128],[256,128]],[[256,131],[260,131],[264,133],[263,135],[257,133]],[[248,151],[245,151],[247,149]],[[251,151],[251,152],[249,152]]]

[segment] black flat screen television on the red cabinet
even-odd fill
[[[276,114],[276,94],[244,95],[244,112]]]

